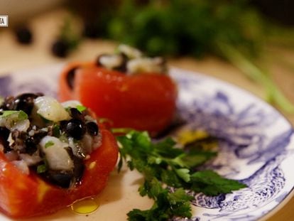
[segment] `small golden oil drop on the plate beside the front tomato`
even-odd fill
[[[71,209],[72,211],[78,214],[89,214],[98,209],[99,204],[94,198],[85,198],[82,200],[77,200],[75,203],[72,203]]]

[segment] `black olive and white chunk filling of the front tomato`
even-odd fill
[[[61,188],[80,182],[100,141],[99,126],[77,101],[26,93],[0,104],[0,151],[23,173],[35,171]]]

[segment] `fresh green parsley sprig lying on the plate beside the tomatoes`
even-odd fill
[[[144,182],[138,191],[141,196],[147,195],[154,200],[149,210],[131,210],[129,220],[191,217],[192,196],[185,190],[219,195],[246,187],[236,180],[222,178],[214,171],[195,170],[196,166],[216,156],[213,151],[199,148],[186,151],[178,148],[171,138],[154,142],[146,131],[129,131],[124,136],[117,136],[117,140],[121,153],[119,171],[126,162],[131,170],[140,172]]]

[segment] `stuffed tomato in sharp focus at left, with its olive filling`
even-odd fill
[[[114,136],[80,102],[23,94],[0,106],[0,211],[56,212],[97,195],[114,169]]]

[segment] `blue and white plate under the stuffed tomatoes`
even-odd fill
[[[62,67],[1,76],[0,95],[44,92],[56,96]],[[289,198],[294,185],[290,123],[266,102],[226,82],[175,68],[170,75],[178,82],[178,114],[187,122],[185,128],[203,129],[220,140],[219,155],[209,168],[248,185],[217,197],[191,193],[195,195],[191,220],[258,220]],[[129,210],[151,206],[151,200],[138,195],[140,181],[136,171],[113,172],[97,198],[96,212],[86,216],[61,210],[34,220],[126,220]],[[0,220],[9,219],[0,216]]]

